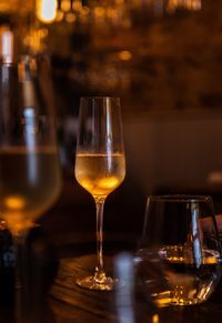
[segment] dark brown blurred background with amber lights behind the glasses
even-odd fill
[[[51,63],[64,183],[41,220],[46,230],[67,240],[93,233],[93,201],[73,172],[82,95],[122,104],[127,176],[108,198],[104,230],[140,232],[154,193],[210,194],[222,212],[221,8],[220,0],[0,0],[2,59],[13,43],[14,59]]]

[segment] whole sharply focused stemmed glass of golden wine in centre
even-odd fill
[[[108,291],[113,289],[114,280],[103,268],[103,205],[125,175],[120,99],[81,98],[79,125],[74,171],[77,181],[95,201],[98,264],[93,275],[79,277],[77,284]]]

